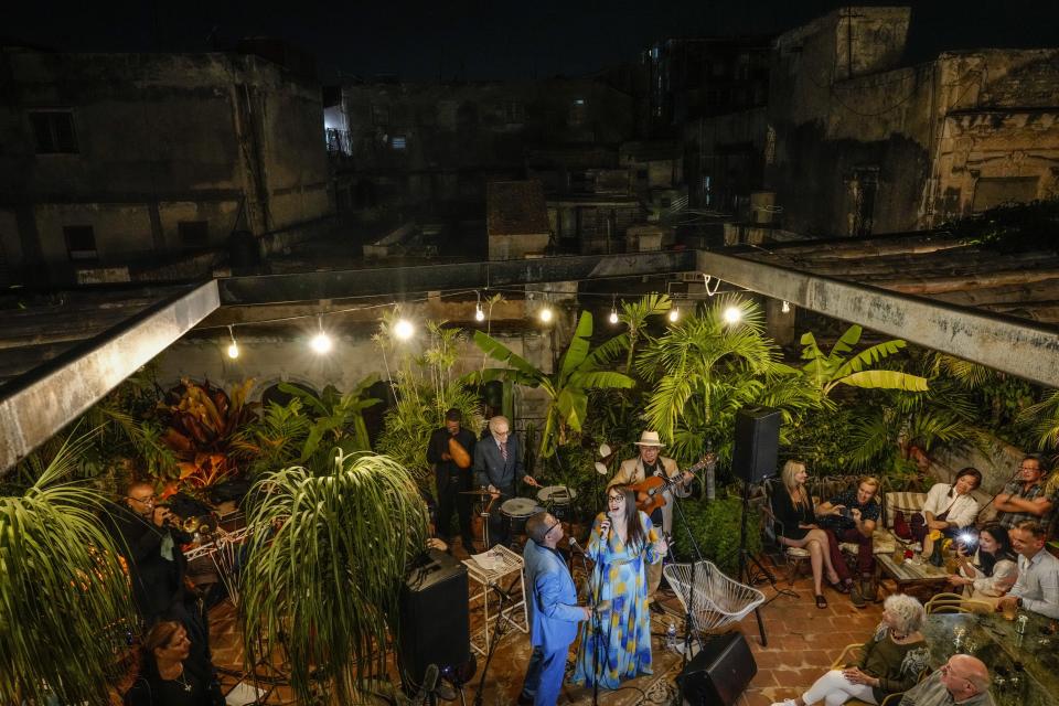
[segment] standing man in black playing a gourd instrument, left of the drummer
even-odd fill
[[[427,461],[434,464],[434,480],[438,486],[438,517],[437,535],[441,539],[449,538],[449,526],[452,522],[452,512],[460,516],[460,537],[468,554],[474,554],[474,533],[471,531],[471,496],[461,495],[462,491],[471,490],[470,468],[460,468],[457,459],[449,452],[449,440],[467,451],[468,459],[474,458],[474,435],[462,428],[463,415],[459,409],[449,409],[445,413],[445,427],[435,429],[427,446]]]

